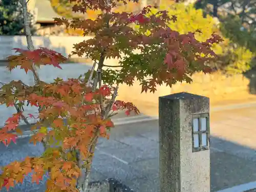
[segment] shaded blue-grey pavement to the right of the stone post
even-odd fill
[[[211,191],[256,181],[255,149],[211,137]]]

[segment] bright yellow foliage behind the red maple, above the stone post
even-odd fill
[[[221,70],[225,73],[242,73],[250,69],[251,65],[253,65],[251,60],[254,54],[247,49],[244,31],[238,29],[238,33],[235,36],[230,36],[231,34],[224,31],[226,28],[223,27],[223,23],[219,24],[216,18],[209,14],[203,14],[202,9],[195,9],[193,4],[162,4],[159,9],[167,9],[170,15],[174,14],[177,16],[177,21],[175,23],[170,22],[168,26],[181,34],[186,34],[189,31],[194,32],[195,38],[199,41],[204,41],[209,38],[212,33],[217,33],[222,36],[224,41],[212,46],[212,49],[218,54],[218,59],[208,63],[211,68]],[[155,11],[157,10],[158,9],[155,9]],[[236,23],[237,20],[232,22],[227,22],[225,25],[240,25]],[[249,36],[247,38],[249,38]],[[237,41],[241,41],[241,43],[235,44],[234,42]],[[247,39],[247,41],[249,41],[249,39]],[[251,44],[250,46],[252,47],[254,45]]]

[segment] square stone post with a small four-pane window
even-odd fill
[[[209,98],[159,97],[161,192],[209,192]]]

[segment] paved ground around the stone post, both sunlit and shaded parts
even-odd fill
[[[255,113],[255,107],[211,113],[211,191],[256,180]],[[42,147],[26,138],[0,151],[1,166],[39,155]],[[99,142],[91,180],[112,177],[135,191],[160,192],[158,168],[158,120],[118,125]],[[36,187],[28,179],[10,191],[43,191]]]

